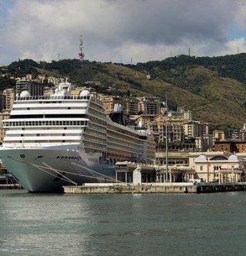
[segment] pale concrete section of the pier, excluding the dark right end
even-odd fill
[[[155,193],[197,193],[193,183],[148,183],[148,184],[85,184],[65,186],[68,194],[155,194]]]

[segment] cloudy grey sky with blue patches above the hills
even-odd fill
[[[0,65],[246,52],[246,0],[0,0]]]

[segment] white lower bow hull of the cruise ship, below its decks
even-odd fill
[[[62,186],[85,182],[105,182],[115,179],[113,166],[91,164],[69,151],[74,159],[61,160],[68,150],[58,149],[1,149],[0,154],[9,173],[29,192],[62,191]]]

